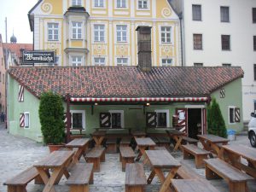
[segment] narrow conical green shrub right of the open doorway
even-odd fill
[[[207,108],[207,132],[219,137],[227,137],[227,129],[216,99],[212,99],[211,105]]]

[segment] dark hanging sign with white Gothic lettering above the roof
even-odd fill
[[[52,50],[25,50],[22,53],[22,63],[54,64],[55,51]]]

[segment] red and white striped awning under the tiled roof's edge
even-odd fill
[[[208,97],[109,97],[109,98],[75,98],[71,97],[71,102],[207,102]]]

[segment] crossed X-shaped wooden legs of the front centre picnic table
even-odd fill
[[[175,176],[177,169],[177,167],[172,168],[168,173],[167,177],[164,176],[164,173],[160,170],[160,168],[154,169],[157,176],[160,178],[161,183],[163,183],[159,192],[172,191],[172,189],[170,188],[170,183],[171,179]]]

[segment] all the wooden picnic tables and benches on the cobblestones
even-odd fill
[[[109,155],[116,157],[115,166],[121,167],[118,172],[125,174],[125,192],[143,192],[148,185],[155,183],[160,192],[206,189],[215,192],[218,189],[210,181],[216,178],[224,178],[230,192],[247,192],[247,182],[256,178],[255,149],[232,145],[222,137],[199,135],[201,143],[196,142],[195,145],[192,138],[190,140],[177,130],[166,131],[164,139],[160,139],[162,136],[157,134],[155,137],[152,137],[152,133],[143,134],[143,131],[130,137],[107,137],[106,133],[107,131],[98,130],[91,134],[94,142],[92,148],[90,138],[74,138],[65,148],[46,155],[4,184],[8,185],[9,192],[26,191],[27,183],[35,180],[35,184],[44,186],[44,192],[56,191],[55,187],[64,176],[62,180],[64,179],[69,191],[87,192],[90,191],[90,185],[100,184],[94,181],[94,175],[102,172],[101,166],[108,164]],[[139,135],[143,137],[138,137]],[[107,142],[104,143],[106,137]],[[183,142],[185,140],[186,143]],[[164,144],[154,141],[163,141]],[[107,155],[109,144],[114,144],[115,147]],[[196,169],[201,169],[205,177],[185,165],[182,158],[195,158],[195,162],[191,161],[191,164]],[[115,171],[111,174],[117,173]]]

